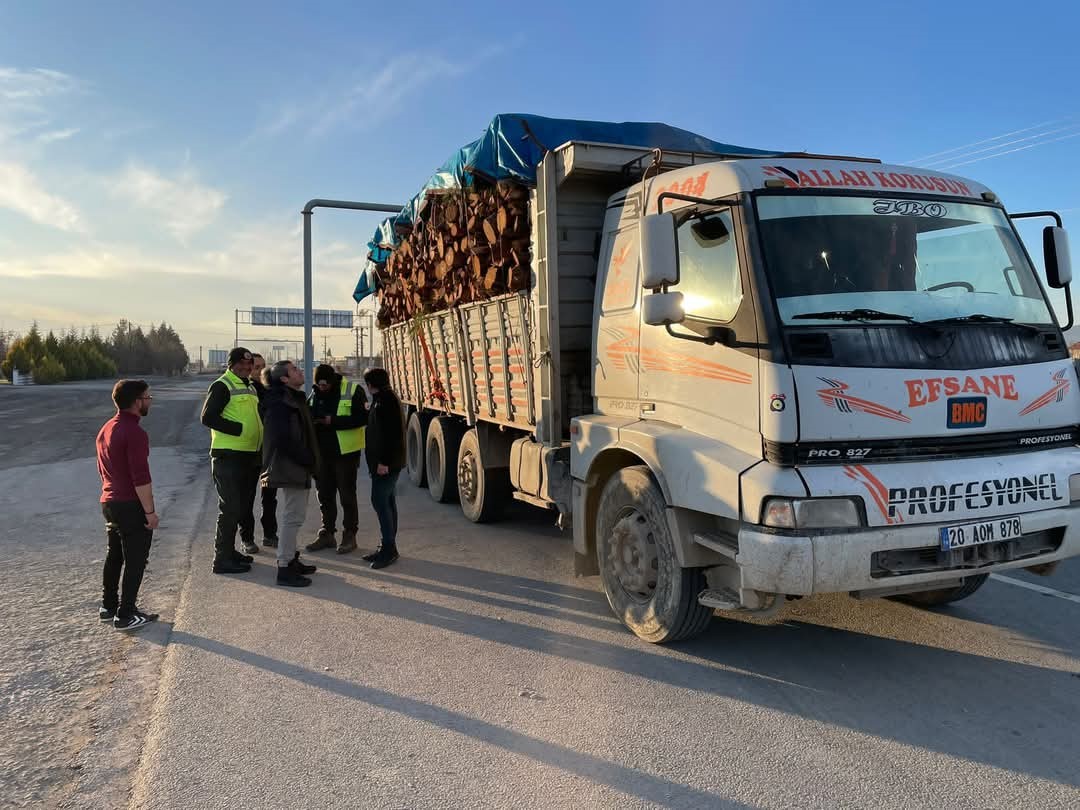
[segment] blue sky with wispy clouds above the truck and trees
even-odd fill
[[[305,202],[404,202],[500,112],[948,168],[1080,244],[1078,30],[1068,2],[0,0],[0,328],[230,347],[237,309],[302,305]],[[316,308],[353,309],[378,220],[315,213]]]

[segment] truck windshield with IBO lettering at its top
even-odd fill
[[[1053,323],[1000,208],[785,194],[759,197],[757,211],[784,323]]]

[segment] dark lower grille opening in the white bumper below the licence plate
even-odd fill
[[[870,555],[870,576],[880,579],[907,573],[971,570],[995,563],[1027,559],[1057,551],[1064,538],[1065,529],[1057,527],[1024,535],[1015,540],[953,551],[942,551],[936,545],[928,545],[924,549],[879,551]]]

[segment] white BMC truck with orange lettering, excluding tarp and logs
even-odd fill
[[[811,594],[943,604],[1080,553],[1077,373],[994,192],[647,146],[553,148],[529,292],[383,332],[415,484],[475,522],[557,511],[654,643]],[[1059,218],[1044,248],[1067,329]]]

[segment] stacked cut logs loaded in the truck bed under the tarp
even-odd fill
[[[528,189],[512,183],[431,190],[419,222],[380,267],[380,326],[527,289]]]

